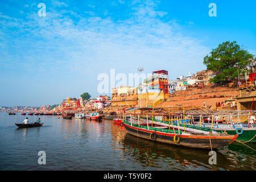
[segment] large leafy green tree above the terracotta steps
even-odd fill
[[[245,76],[249,72],[247,66],[253,59],[248,51],[241,48],[236,41],[224,42],[210,52],[210,55],[204,57],[204,64],[207,69],[211,69],[216,76],[210,78],[210,82],[226,84],[238,80],[239,76]]]

